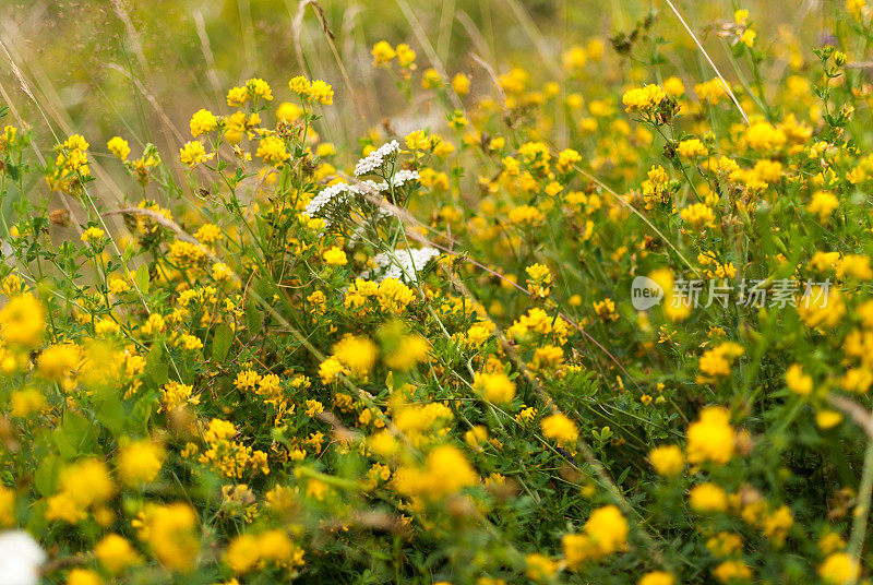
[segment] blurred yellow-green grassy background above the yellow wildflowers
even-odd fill
[[[742,8],[752,11],[760,38],[767,43],[779,23],[800,31],[805,22],[826,31],[826,4],[751,2]],[[498,72],[513,63],[549,76],[560,72],[567,46],[629,31],[649,13],[656,15],[657,34],[674,45],[690,43],[661,1],[322,0],[319,5],[368,124],[417,111],[390,76],[371,67],[369,51],[380,39],[408,43],[418,53],[419,72],[439,60],[450,73],[473,73],[475,83],[487,80],[475,71],[473,53]],[[677,5],[704,34],[707,25],[729,20],[739,8],[729,1]],[[360,132],[362,122],[316,11],[296,0],[2,0],[3,97],[34,127],[43,126],[45,116],[59,135],[74,130],[95,143],[118,133],[131,145],[151,141],[166,153],[188,138],[193,111],[227,109],[224,95],[231,85],[261,76],[273,85],[277,105],[288,98],[287,80],[306,68],[303,73],[334,85],[335,107],[326,115],[334,126],[331,138],[342,142]],[[719,59],[725,51],[713,33],[706,43]],[[699,65],[697,58],[677,64]],[[181,136],[172,135],[172,129]]]

